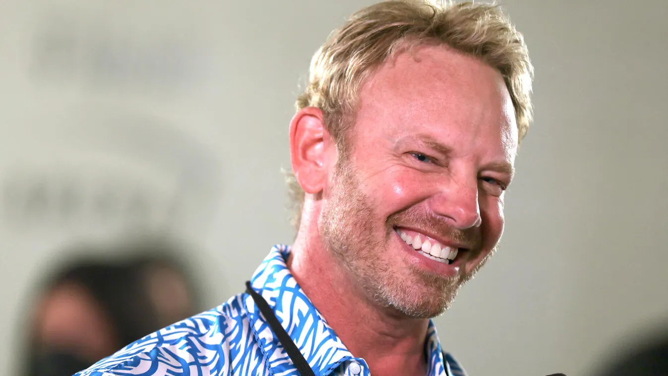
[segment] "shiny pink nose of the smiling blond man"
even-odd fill
[[[454,178],[440,184],[440,189],[430,199],[430,209],[446,218],[460,230],[478,227],[482,224],[478,204],[478,179]]]

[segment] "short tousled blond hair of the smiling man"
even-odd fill
[[[448,46],[498,70],[512,99],[519,139],[524,138],[532,119],[533,67],[522,35],[498,6],[484,3],[395,0],[357,11],[313,55],[297,110],[312,106],[323,112],[325,128],[343,158],[346,131],[354,123],[357,92],[365,79],[397,51],[419,45]],[[299,230],[305,193],[291,173],[287,184],[291,221]]]

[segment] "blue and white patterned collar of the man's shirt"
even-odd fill
[[[255,270],[251,286],[269,303],[269,307],[309,362],[313,372],[318,376],[327,376],[341,363],[355,358],[297,284],[287,267],[290,252],[289,246],[273,246],[269,255]],[[287,361],[289,357],[279,339],[260,315],[250,295],[246,297],[245,304],[253,331],[267,354],[265,360],[270,367],[279,367],[280,371],[286,371],[291,367],[291,362]],[[432,321],[429,323],[425,346],[429,362],[427,375],[445,376],[441,345]],[[363,359],[355,360],[364,363]]]

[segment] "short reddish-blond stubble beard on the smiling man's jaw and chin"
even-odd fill
[[[359,291],[381,309],[415,319],[441,315],[492,254],[472,272],[452,277],[427,272],[396,257],[392,260],[385,248],[394,230],[389,222],[374,220],[375,202],[362,192],[349,162],[339,160],[332,186],[335,190],[330,191],[319,218],[323,244],[357,280]]]

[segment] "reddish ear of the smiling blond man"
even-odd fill
[[[327,184],[326,148],[329,133],[323,112],[306,107],[290,122],[290,158],[293,174],[307,193],[318,194]]]

